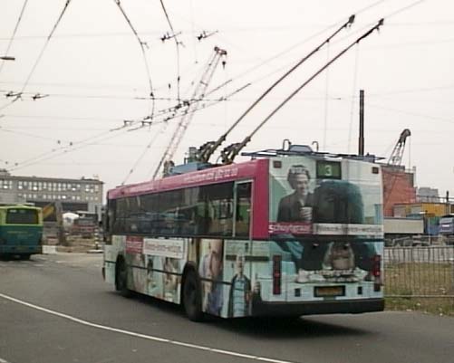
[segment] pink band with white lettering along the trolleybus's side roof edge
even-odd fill
[[[116,199],[123,196],[140,196],[145,193],[253,178],[256,177],[257,173],[265,173],[267,170],[267,159],[250,160],[243,163],[222,167],[211,167],[178,176],[150,180],[139,184],[132,184],[130,186],[117,186],[108,191],[107,197],[108,199]]]

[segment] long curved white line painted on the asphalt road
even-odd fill
[[[66,320],[71,320],[71,321],[76,322],[78,324],[82,324],[82,325],[85,325],[85,326],[88,326],[88,327],[92,327],[92,328],[96,328],[96,329],[113,331],[113,332],[116,332],[116,333],[129,335],[130,337],[136,337],[136,338],[141,338],[141,339],[159,341],[160,343],[167,343],[167,344],[171,344],[171,345],[175,345],[175,346],[179,346],[179,347],[185,347],[185,348],[188,348],[188,349],[206,350],[206,351],[209,351],[211,353],[223,354],[223,355],[230,356],[230,357],[245,358],[245,359],[258,360],[258,361],[269,362],[269,363],[295,363],[295,362],[291,362],[291,361],[288,361],[288,360],[280,360],[280,359],[274,359],[274,358],[259,357],[259,356],[254,356],[252,354],[244,354],[244,353],[238,353],[238,352],[230,351],[230,350],[210,348],[210,347],[205,347],[205,346],[201,346],[201,345],[198,345],[198,344],[186,343],[184,341],[159,338],[159,337],[155,337],[155,336],[152,336],[152,335],[135,333],[135,332],[129,331],[129,330],[111,328],[111,327],[108,327],[108,326],[105,326],[105,325],[95,324],[95,323],[92,323],[92,322],[87,321],[87,320],[74,318],[71,315],[63,314],[62,312],[45,309],[45,308],[43,308],[41,306],[34,305],[34,304],[30,303],[30,302],[22,301],[22,300],[19,300],[19,299],[15,299],[15,298],[13,298],[11,296],[8,296],[8,295],[5,295],[3,293],[0,293],[0,297],[5,299],[5,300],[14,301],[14,302],[16,302],[18,304],[27,306],[27,307],[35,309],[35,310],[40,310],[40,311],[46,312],[46,313],[51,314],[51,315],[58,316],[60,318],[66,319]],[[5,361],[5,360],[2,360],[2,358],[0,358],[0,363],[8,363],[8,362]]]

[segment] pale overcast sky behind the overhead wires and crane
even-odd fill
[[[198,110],[177,162],[189,146],[217,139],[282,73],[357,14],[349,30],[268,95],[223,146],[244,139],[329,58],[384,17],[380,33],[299,92],[245,150],[280,148],[291,139],[317,141],[321,151],[356,153],[364,90],[365,151],[389,158],[401,131],[411,129],[402,163],[416,167],[417,186],[454,196],[449,0],[163,0],[179,52],[175,39],[160,40],[172,32],[159,0],[121,0],[121,8],[114,0],[72,0],[57,22],[66,3],[0,2],[0,57],[15,57],[0,61],[0,168],[13,175],[99,176],[106,188],[150,179],[181,119],[164,118],[172,116],[179,96],[190,99],[215,46],[227,58],[208,91],[228,82],[192,106]],[[208,36],[198,40],[203,31]],[[21,91],[21,99],[6,97]],[[152,124],[138,129],[151,114]],[[121,128],[125,119],[134,122]]]

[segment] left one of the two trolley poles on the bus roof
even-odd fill
[[[328,38],[326,38],[326,40],[324,40],[323,43],[320,43],[316,48],[314,48],[314,50],[305,55],[304,58],[302,58],[299,62],[297,62],[292,68],[290,68],[290,70],[288,70],[287,72],[285,72],[277,81],[275,81],[270,87],[268,87],[268,89],[266,89],[265,92],[263,92],[260,97],[258,99],[256,99],[252,105],[250,105],[247,110],[245,112],[243,112],[243,114],[233,123],[232,126],[230,126],[229,129],[227,129],[227,131],[219,138],[217,139],[217,141],[213,142],[208,142],[206,143],[205,145],[203,145],[202,147],[200,147],[199,149],[199,158],[200,158],[200,161],[201,162],[208,162],[208,159],[211,158],[211,156],[213,155],[213,153],[216,151],[216,149],[227,139],[227,135],[237,127],[237,124],[239,122],[241,122],[242,119],[244,119],[246,117],[246,115],[251,111],[253,110],[256,105],[261,101],[263,100],[266,95],[270,92],[270,91],[273,91],[273,89],[275,88],[275,86],[277,86],[281,81],[284,81],[285,78],[287,78],[292,72],[294,72],[300,65],[302,65],[305,61],[307,61],[309,58],[311,58],[315,53],[317,53],[318,51],[320,51],[320,49],[322,49],[322,47],[325,45],[325,44],[328,44],[331,42],[331,40],[333,39],[334,36],[336,36],[338,33],[340,33],[343,29],[346,29],[348,27],[350,27],[353,23],[354,23],[354,17],[355,15],[351,15],[348,20],[342,24],[334,33],[332,33]]]

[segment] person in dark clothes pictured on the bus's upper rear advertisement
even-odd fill
[[[294,165],[288,169],[287,181],[294,192],[279,201],[277,222],[312,221],[312,205],[314,196],[309,193],[311,175],[307,167]]]

